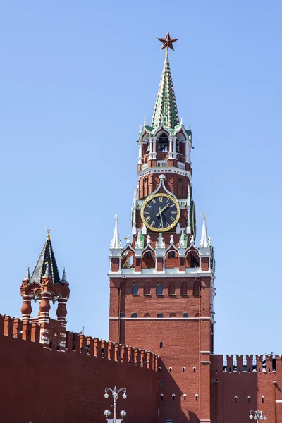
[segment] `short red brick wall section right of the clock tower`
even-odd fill
[[[227,356],[225,371],[222,355],[211,358],[212,423],[250,422],[250,410],[265,411],[269,423],[282,422],[281,356],[276,355],[276,371],[273,370],[272,357],[266,356],[265,368],[262,367],[262,356],[255,357],[256,366],[253,369],[252,356],[247,356],[245,368],[243,356],[237,356],[237,366],[233,370],[233,356]]]

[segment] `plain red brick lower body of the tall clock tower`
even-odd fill
[[[161,275],[159,279],[126,278],[120,308],[118,286],[121,278],[111,279],[109,338],[111,341],[118,339],[120,324],[122,343],[137,348],[142,346],[161,357],[158,372],[160,423],[166,423],[167,419],[174,423],[197,423],[199,417],[202,420],[210,418],[210,355],[207,353],[211,350],[210,279],[201,278],[201,298],[193,295],[195,278],[184,276],[184,279],[187,295],[180,295],[182,278],[174,279],[175,295],[168,295],[171,278]],[[150,283],[150,295],[144,295],[145,281]],[[164,288],[162,296],[156,293],[158,281]],[[132,295],[135,283],[138,295]],[[125,313],[125,318],[118,321],[119,310]],[[137,313],[138,318],[131,318],[132,313]],[[149,318],[145,317],[147,313]],[[158,313],[163,313],[164,318],[157,319]],[[175,316],[171,317],[171,313]],[[183,313],[188,313],[189,317],[183,318]]]

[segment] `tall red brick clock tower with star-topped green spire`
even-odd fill
[[[159,422],[210,422],[214,256],[204,218],[195,245],[191,130],[179,122],[169,34],[152,125],[138,140],[133,241],[110,247],[109,339],[159,354]]]

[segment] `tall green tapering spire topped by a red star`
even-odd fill
[[[168,126],[168,128],[175,128],[176,125],[179,124],[179,118],[171,69],[168,61],[168,48],[173,49],[172,43],[176,42],[177,39],[172,39],[169,32],[166,34],[166,38],[158,39],[163,43],[161,49],[166,48],[166,56],[164,59],[163,72],[161,74],[161,82],[159,82],[156,104],[154,106],[152,126],[159,126],[161,121],[164,121],[164,124]]]

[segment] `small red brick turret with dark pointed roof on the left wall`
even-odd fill
[[[35,270],[30,277],[30,270],[20,286],[20,294],[23,297],[22,319],[38,323],[40,325],[40,342],[49,347],[55,343],[57,350],[63,350],[66,346],[66,303],[70,295],[70,288],[66,281],[65,269],[60,278],[50,234],[39,256]],[[32,300],[38,300],[39,313],[37,317],[31,317]],[[55,304],[57,319],[50,318],[50,301]]]

